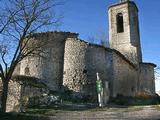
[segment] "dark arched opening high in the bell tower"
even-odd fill
[[[116,16],[117,19],[117,33],[124,32],[124,25],[123,25],[123,14],[118,13]]]

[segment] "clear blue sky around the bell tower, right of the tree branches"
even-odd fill
[[[61,6],[64,13],[59,30],[77,32],[87,40],[98,31],[108,35],[108,6],[119,0],[67,0]],[[160,66],[160,0],[134,0],[139,8],[141,46],[144,62]],[[160,90],[160,80],[156,80]]]

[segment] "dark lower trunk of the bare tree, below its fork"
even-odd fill
[[[1,111],[6,112],[6,104],[7,104],[7,95],[8,95],[8,80],[3,81],[3,89],[1,95]]]

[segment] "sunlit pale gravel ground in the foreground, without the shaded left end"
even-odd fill
[[[160,110],[153,106],[142,107],[135,111],[122,111],[62,112],[49,118],[50,120],[160,120]]]

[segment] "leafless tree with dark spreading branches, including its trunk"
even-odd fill
[[[54,8],[61,4],[60,0],[7,0],[3,3],[5,7],[0,13],[2,112],[6,111],[8,84],[17,64],[27,56],[40,55],[41,47],[48,43],[38,43],[30,36],[59,24],[61,17],[56,16]]]

